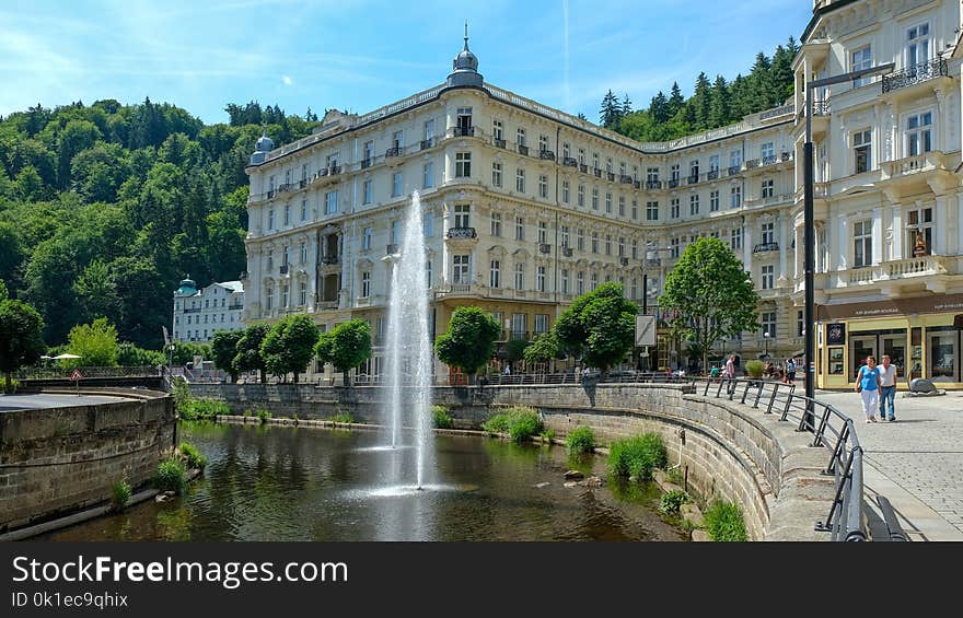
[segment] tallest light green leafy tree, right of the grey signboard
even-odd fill
[[[758,302],[742,261],[722,241],[710,236],[685,248],[665,277],[659,307],[674,312],[673,335],[695,343],[706,368],[709,350],[719,339],[759,328]]]

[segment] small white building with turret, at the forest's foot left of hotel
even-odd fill
[[[174,341],[206,343],[218,330],[244,328],[243,313],[241,281],[214,282],[198,290],[188,277],[174,292]]]

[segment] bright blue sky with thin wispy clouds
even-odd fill
[[[0,115],[81,100],[369,112],[444,81],[469,46],[486,81],[597,120],[611,88],[648,105],[674,80],[734,78],[810,0],[97,0],[0,2]]]

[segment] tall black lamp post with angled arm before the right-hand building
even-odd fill
[[[815,396],[815,307],[813,296],[813,271],[815,269],[815,213],[813,210],[813,193],[815,190],[813,178],[813,153],[812,153],[812,107],[813,90],[827,85],[848,82],[858,78],[892,72],[894,62],[887,62],[869,69],[860,69],[833,75],[821,80],[808,81],[805,84],[805,141],[802,144],[802,182],[803,182],[803,259],[805,261],[805,396],[812,399]],[[800,429],[807,425],[813,427],[812,404],[807,405],[807,412]]]

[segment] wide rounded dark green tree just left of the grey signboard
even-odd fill
[[[618,283],[603,283],[577,298],[555,323],[558,343],[604,374],[635,345],[638,306],[623,296]]]

